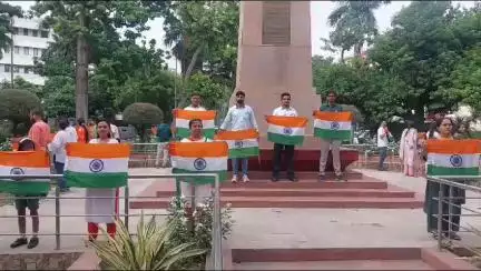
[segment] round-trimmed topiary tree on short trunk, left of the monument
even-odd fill
[[[136,127],[140,131],[143,142],[147,142],[148,129],[153,124],[159,124],[164,120],[163,111],[155,104],[136,102],[128,106],[122,113],[124,121]]]

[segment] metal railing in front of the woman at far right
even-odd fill
[[[428,223],[439,250],[462,248],[481,257],[481,212],[474,202],[481,199],[480,180],[480,175],[428,177]],[[471,224],[475,219],[478,224]]]

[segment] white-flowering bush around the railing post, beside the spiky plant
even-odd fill
[[[213,219],[214,219],[214,200],[213,198],[205,199],[203,204],[195,208],[194,213],[186,212],[187,201],[190,199],[173,198],[169,208],[167,209],[167,221],[174,223],[175,234],[173,235],[173,245],[194,242],[196,249],[212,251],[212,237],[213,237]],[[232,232],[234,220],[232,219],[232,209],[227,204],[220,211],[220,232],[222,238],[227,239]],[[186,270],[195,268],[195,270],[205,270],[206,255],[202,254],[190,258],[186,262],[175,268],[178,270]]]

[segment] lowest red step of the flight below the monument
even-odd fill
[[[130,201],[131,209],[164,209],[170,198]],[[360,208],[414,209],[423,201],[415,198],[318,198],[318,197],[223,197],[222,203],[233,208]]]

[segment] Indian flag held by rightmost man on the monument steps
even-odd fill
[[[352,112],[316,111],[314,137],[326,140],[349,140],[352,137]]]

